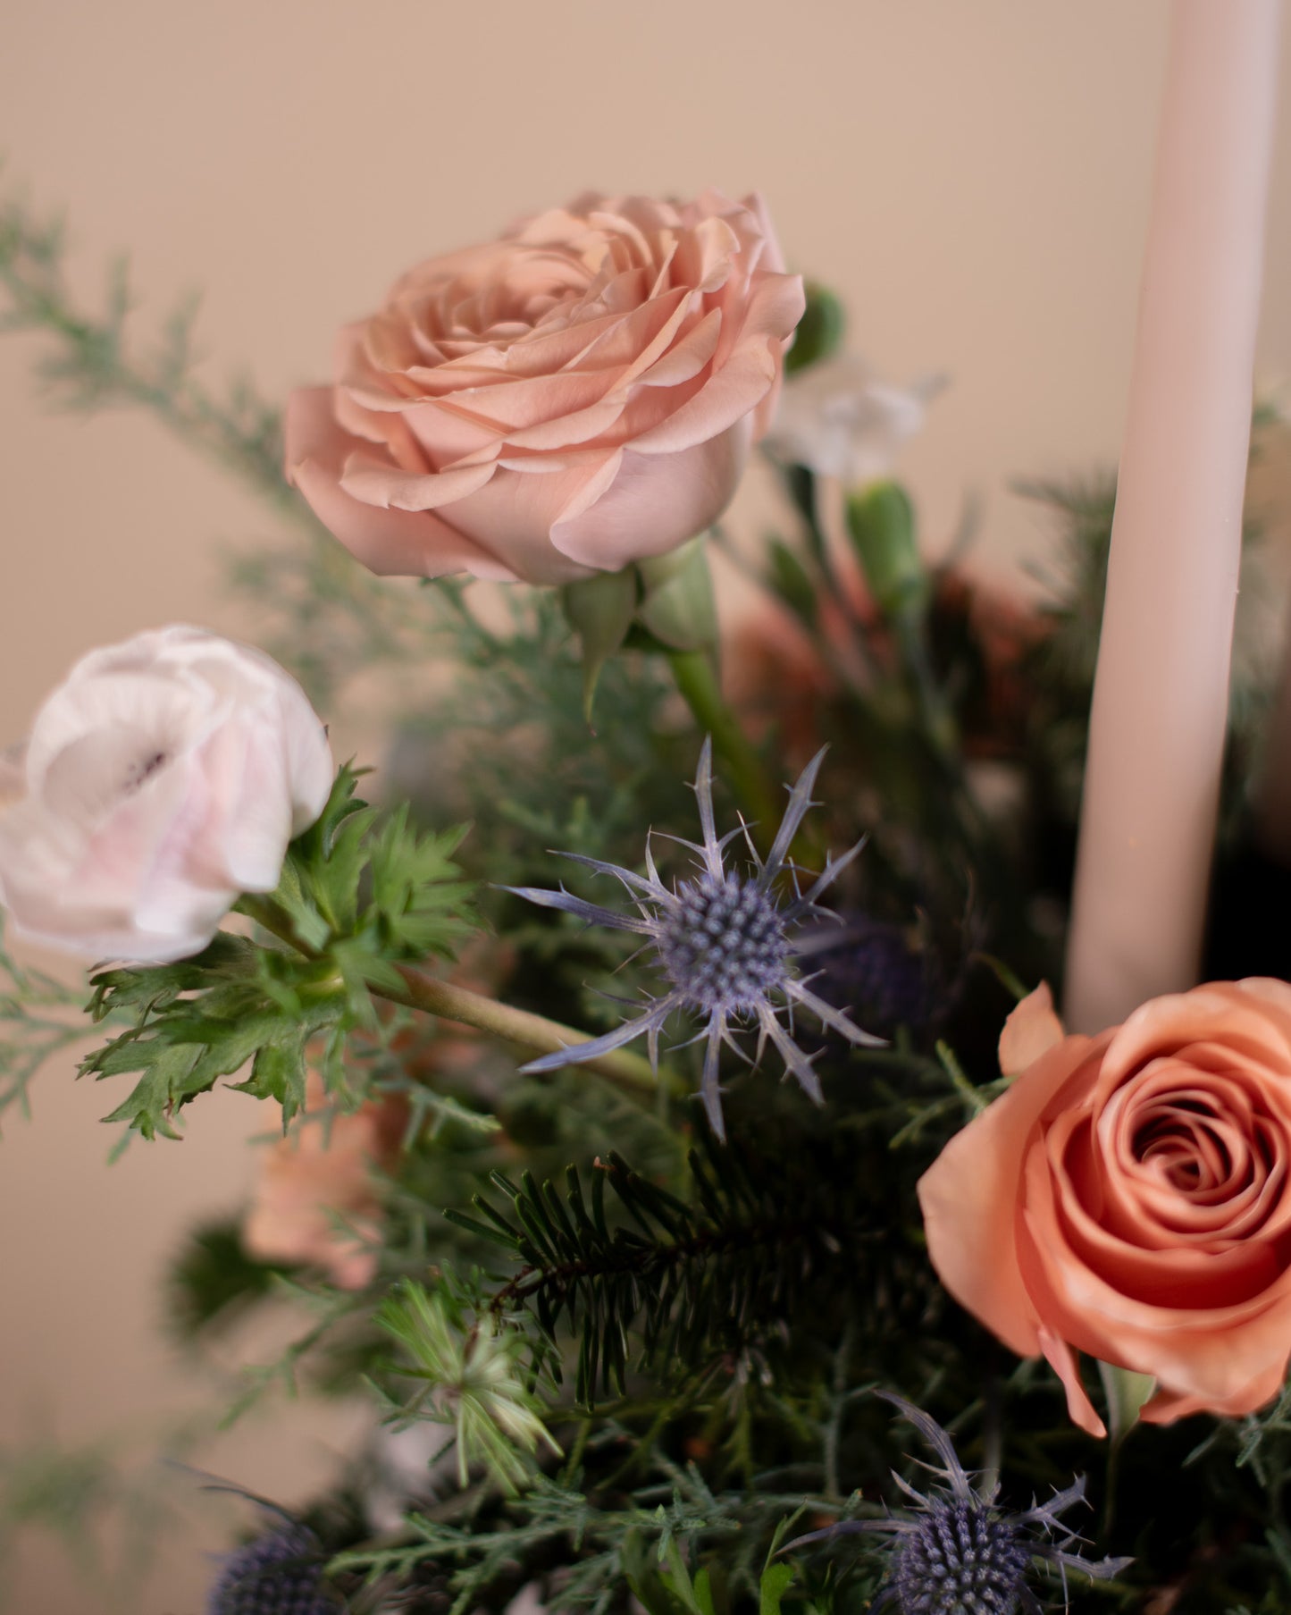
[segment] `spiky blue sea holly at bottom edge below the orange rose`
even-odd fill
[[[1039,1565],[1057,1567],[1067,1602],[1067,1571],[1105,1581],[1120,1575],[1128,1558],[1097,1562],[1073,1552],[1081,1541],[1062,1523],[1062,1515],[1084,1499],[1084,1478],[1073,1481],[1047,1504],[1033,1502],[1025,1513],[1009,1513],[996,1502],[999,1483],[973,1486],[959,1462],[954,1442],[921,1408],[878,1392],[923,1436],[942,1462],[926,1468],[944,1486],[928,1494],[915,1491],[899,1474],[892,1479],[913,1502],[904,1516],[844,1520],[788,1542],[784,1552],[852,1533],[878,1533],[892,1539],[888,1581],[870,1605],[871,1612],[896,1605],[899,1615],[1041,1615],[1042,1605],[1026,1576]]]

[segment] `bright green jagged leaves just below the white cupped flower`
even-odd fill
[[[287,849],[278,890],[239,904],[273,943],[219,932],[194,959],[92,979],[90,1017],[131,1024],[81,1074],[140,1074],[107,1121],[176,1139],[179,1110],[247,1064],[234,1087],[278,1100],[284,1127],[303,1108],[307,1066],[329,1095],[358,1103],[342,1056],[350,1032],[381,1032],[370,988],[402,985],[402,961],[450,958],[473,933],[473,888],[452,861],[462,830],[423,835],[405,812],[382,820],[355,796],[357,780],[341,769],[321,817]]]

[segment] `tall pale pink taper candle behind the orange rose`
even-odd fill
[[[1080,1032],[1201,964],[1278,19],[1278,0],[1173,6],[1067,954]]]

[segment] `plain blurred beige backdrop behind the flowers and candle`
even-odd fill
[[[975,564],[1023,588],[1047,530],[1010,481],[1117,455],[1167,16],[1167,0],[15,3],[0,186],[66,212],[79,296],[98,302],[108,260],[129,254],[140,338],[200,291],[211,383],[245,368],[269,397],[324,378],[336,326],[407,265],[520,213],[586,187],[757,187],[791,265],[841,292],[850,346],[881,376],[950,378],[900,464],[930,551],[976,501]],[[1272,388],[1291,371],[1291,37],[1281,76],[1259,346]],[[40,352],[0,341],[0,745],[92,644],[171,620],[253,633],[228,556],[287,541],[155,420],[45,410]],[[1276,575],[1285,468],[1268,480]],[[757,497],[737,507],[754,530]],[[342,736],[379,756],[353,715]],[[108,1166],[97,1119],[118,1097],[71,1066],[45,1071],[0,1143],[0,1476],[34,1497],[48,1442],[147,1478],[147,1454],[226,1395],[232,1357],[181,1360],[161,1279],[190,1223],[249,1193],[245,1139],[263,1126],[223,1093],[182,1143]],[[360,1408],[279,1399],[200,1462],[290,1502],[363,1424]],[[182,1474],[163,1484],[174,1528],[131,1609],[197,1615],[229,1512]],[[27,1533],[0,1596],[42,1615],[108,1609],[74,1558]]]

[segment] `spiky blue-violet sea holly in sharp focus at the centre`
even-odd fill
[[[576,1066],[584,1059],[607,1055],[613,1048],[646,1037],[650,1063],[658,1066],[658,1034],[665,1021],[683,1013],[702,1017],[707,1024],[699,1038],[707,1038],[704,1055],[704,1079],[700,1097],[708,1113],[713,1132],[726,1135],[721,1119],[721,1090],[718,1085],[718,1058],[721,1045],[747,1058],[736,1042],[733,1029],[757,1030],[757,1055],[762,1058],[767,1043],[776,1050],[802,1090],[817,1103],[823,1101],[820,1077],[813,1069],[818,1053],[805,1055],[794,1040],[794,1013],[805,1009],[821,1026],[829,1027],[849,1043],[878,1045],[883,1038],[871,1037],[854,1026],[844,1009],[836,1009],[810,990],[810,977],[800,977],[794,969],[794,954],[804,927],[821,919],[836,919],[817,901],[860,851],[859,841],[842,858],[826,858],[825,869],[807,890],[802,890],[804,870],[789,856],[794,837],[810,808],[812,787],[820,772],[823,751],[807,764],[797,785],[789,791],[789,806],[776,832],[765,862],[749,837],[749,827],[741,824],[718,837],[713,822],[713,748],[704,741],[696,772],[696,799],[702,843],[679,841],[696,854],[697,872],[689,880],[665,885],[655,869],[650,837],[646,838],[646,874],[637,875],[618,864],[605,864],[581,853],[565,853],[597,874],[615,875],[628,888],[636,912],[620,912],[600,908],[574,896],[571,891],[545,891],[534,887],[508,887],[529,903],[542,908],[563,909],[592,925],[612,925],[642,938],[642,951],[654,953],[654,964],[663,977],[663,990],[647,996],[642,1013],[604,1037],[589,1043],[557,1050],[531,1061],[524,1071],[557,1071],[560,1066]],[[744,872],[726,867],[726,848],[741,838],[752,862]],[[670,837],[670,840],[673,840]],[[676,838],[679,840],[679,838]]]

